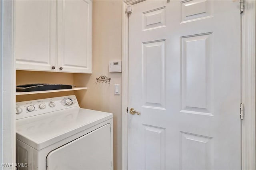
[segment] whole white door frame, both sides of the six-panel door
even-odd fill
[[[122,3],[122,170],[128,169],[128,14],[127,6],[144,0],[124,0]],[[241,123],[242,170],[256,169],[255,147],[255,24],[256,1],[245,0],[241,19],[241,103],[244,120]],[[239,92],[238,92],[239,93]]]

